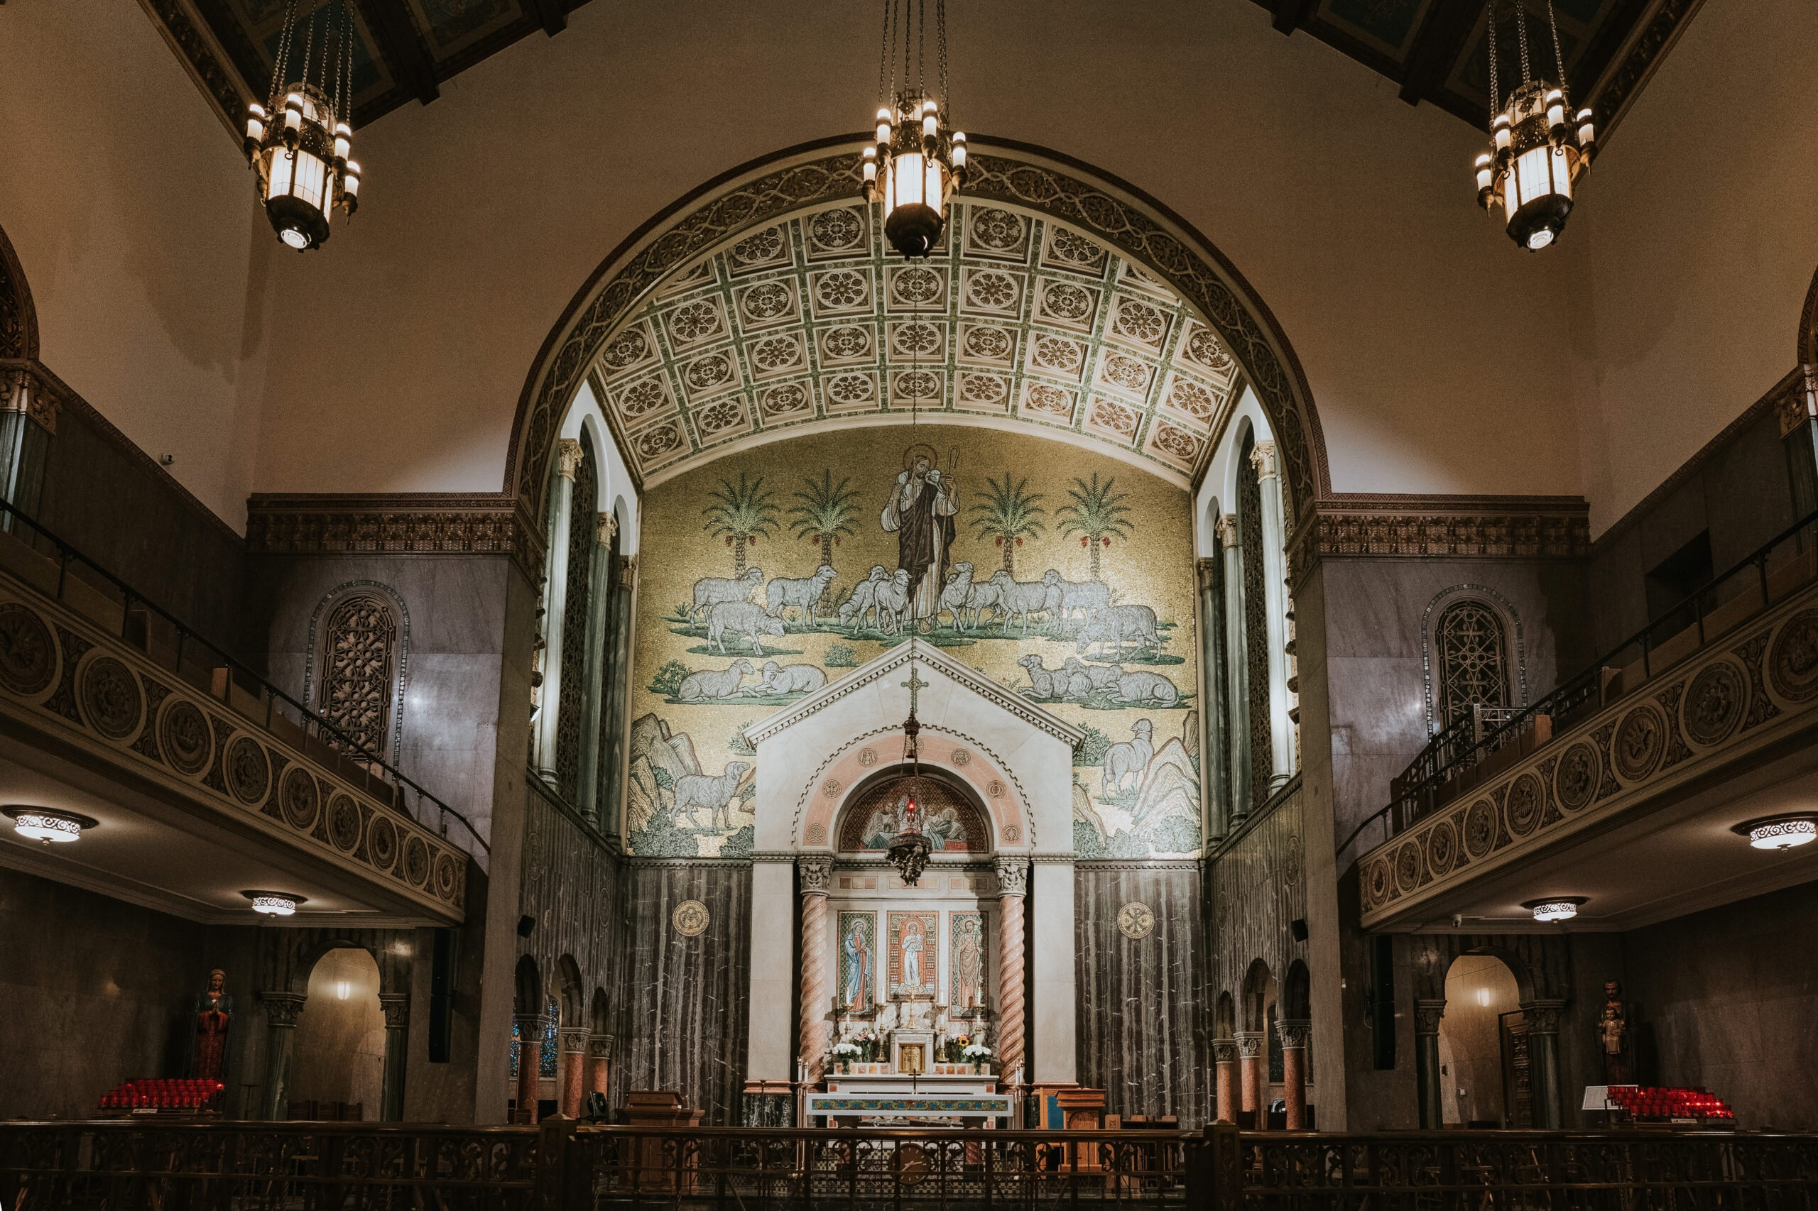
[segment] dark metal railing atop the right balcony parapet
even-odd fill
[[[1485,707],[1449,722],[1389,782],[1389,804],[1351,831],[1338,847],[1340,858],[1369,826],[1382,822],[1383,840],[1400,835],[1500,769],[1489,764],[1500,753],[1531,753],[1705,642],[1785,600],[1818,575],[1814,529],[1818,513],[1800,518],[1531,706]]]

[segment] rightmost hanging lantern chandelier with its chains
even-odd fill
[[[1516,33],[1522,45],[1522,85],[1503,105],[1496,91],[1496,7],[1489,0],[1489,136],[1491,147],[1476,158],[1478,205],[1502,211],[1509,238],[1536,253],[1560,238],[1565,216],[1573,213],[1573,185],[1591,167],[1596,129],[1591,111],[1571,113],[1565,95],[1565,58],[1560,55],[1560,25],[1547,0],[1547,27],[1553,31],[1553,65],[1558,84],[1533,78],[1527,64],[1527,7],[1514,0]],[[1571,118],[1567,122],[1567,118]]]

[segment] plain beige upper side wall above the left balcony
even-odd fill
[[[138,4],[0,5],[0,165],[44,364],[242,527],[273,235],[235,140]]]

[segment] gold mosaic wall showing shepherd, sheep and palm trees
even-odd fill
[[[742,729],[916,633],[1087,729],[1082,858],[1200,851],[1191,498],[1020,433],[756,445],[644,498],[627,840],[751,853]]]

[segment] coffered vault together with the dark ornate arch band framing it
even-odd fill
[[[507,485],[536,507],[587,382],[645,485],[753,442],[918,415],[1034,429],[1185,487],[1249,384],[1296,511],[1329,491],[1300,365],[1204,236],[1080,164],[973,147],[925,262],[885,251],[847,147],[747,165],[645,224],[545,342]]]

